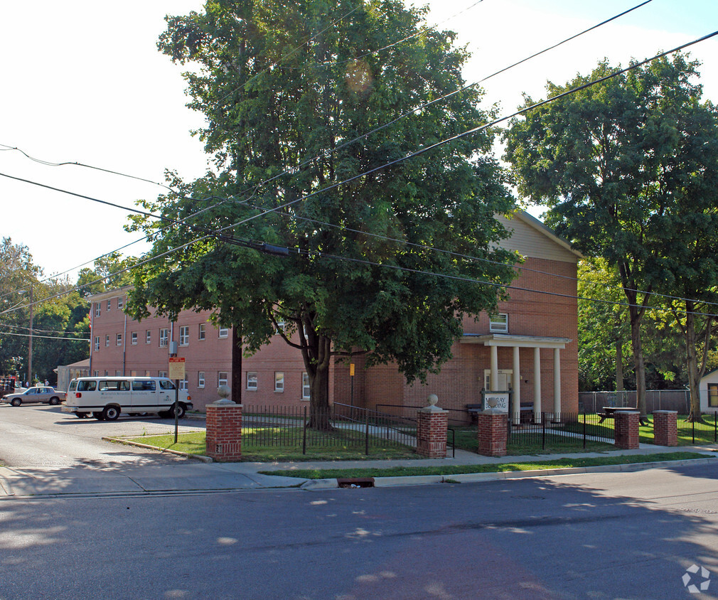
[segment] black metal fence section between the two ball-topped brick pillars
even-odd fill
[[[365,454],[392,446],[416,447],[416,418],[340,403],[314,413],[309,406],[245,405],[242,446],[301,448],[302,454],[307,454],[307,449],[332,447]]]

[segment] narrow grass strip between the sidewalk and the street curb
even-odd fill
[[[696,452],[665,452],[662,454],[631,454],[630,456],[597,456],[583,459],[555,459],[526,463],[446,465],[444,467],[391,467],[389,469],[297,469],[292,471],[260,471],[264,475],[301,477],[302,479],[334,479],[335,477],[410,477],[416,475],[459,475],[467,473],[503,473],[564,469],[567,467],[600,467],[606,464],[635,464],[672,460],[704,459]]]

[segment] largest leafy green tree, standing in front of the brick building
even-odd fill
[[[175,222],[135,219],[157,260],[137,271],[130,309],[215,309],[248,352],[279,330],[304,359],[312,426],[328,425],[333,356],[365,352],[423,380],[513,276],[492,132],[381,168],[488,120],[477,90],[419,108],[464,85],[466,58],[423,14],[398,0],[211,1],[168,17],[159,41],[194,67],[189,106],[207,118],[214,169],[144,202]]]

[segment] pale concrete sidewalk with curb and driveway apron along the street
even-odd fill
[[[213,463],[187,459],[186,463],[117,467],[66,467],[60,469],[39,468],[14,469],[0,467],[0,500],[9,498],[32,499],[33,497],[117,497],[133,495],[193,494],[208,492],[231,492],[244,489],[331,489],[337,488],[336,479],[298,479],[259,474],[259,471],[292,469],[344,469],[369,467],[430,467],[442,465],[501,464],[513,462],[536,462],[546,459],[581,458],[591,456],[619,456],[625,454],[658,454],[675,451],[699,452],[705,459],[686,461],[663,461],[641,464],[607,465],[605,467],[579,467],[572,469],[545,469],[509,473],[476,473],[449,475],[456,482],[479,482],[519,477],[556,476],[588,472],[637,471],[681,464],[705,464],[715,462],[716,446],[679,446],[666,448],[641,444],[638,450],[616,450],[601,453],[551,454],[544,456],[503,456],[491,458],[471,452],[456,452],[455,458],[416,459],[401,461],[307,461],[288,463],[238,462]],[[376,477],[375,487],[396,485],[421,485],[442,482],[442,475],[420,477]]]

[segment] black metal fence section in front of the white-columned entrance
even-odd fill
[[[553,448],[555,446],[581,446],[589,442],[612,444],[615,432],[613,421],[601,421],[596,413],[541,413],[531,423],[516,423],[509,415],[507,446],[512,451],[526,448]]]

